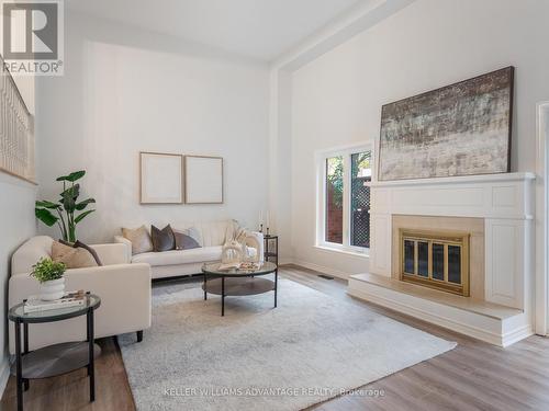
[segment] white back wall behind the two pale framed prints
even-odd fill
[[[37,81],[40,196],[55,199],[55,178],[88,171],[98,212],[79,226],[82,240],[112,241],[144,222],[256,228],[268,192],[267,67],[75,13],[65,45],[65,76]],[[225,204],[141,206],[139,151],[222,156]]]

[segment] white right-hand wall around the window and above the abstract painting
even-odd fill
[[[295,71],[287,102],[294,260],[368,271],[367,259],[314,248],[314,151],[376,141],[385,103],[513,65],[512,167],[534,171],[536,103],[549,99],[547,15],[547,1],[417,0]]]

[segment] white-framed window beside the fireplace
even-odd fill
[[[366,146],[318,157],[317,243],[365,252],[370,248],[371,149]]]

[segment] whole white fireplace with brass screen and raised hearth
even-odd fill
[[[535,178],[533,173],[504,173],[369,183],[370,260],[367,273],[350,276],[349,294],[492,344],[506,346],[530,335],[536,292]],[[410,270],[404,270],[402,261],[401,231],[413,240]],[[451,290],[457,294],[429,288],[442,285],[433,273],[435,279],[441,273],[449,278],[444,269],[446,247],[435,246],[433,251],[433,244],[451,246],[453,241],[448,240],[459,242],[462,235],[459,272],[460,281],[469,282],[469,296],[459,295],[467,294],[467,284]],[[417,256],[416,242],[427,243],[417,246]],[[449,255],[455,251],[450,249]],[[429,252],[438,253],[430,272]],[[429,287],[418,287],[419,282]]]

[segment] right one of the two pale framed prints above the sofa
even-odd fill
[[[186,156],[184,179],[187,204],[223,203],[223,158]]]

